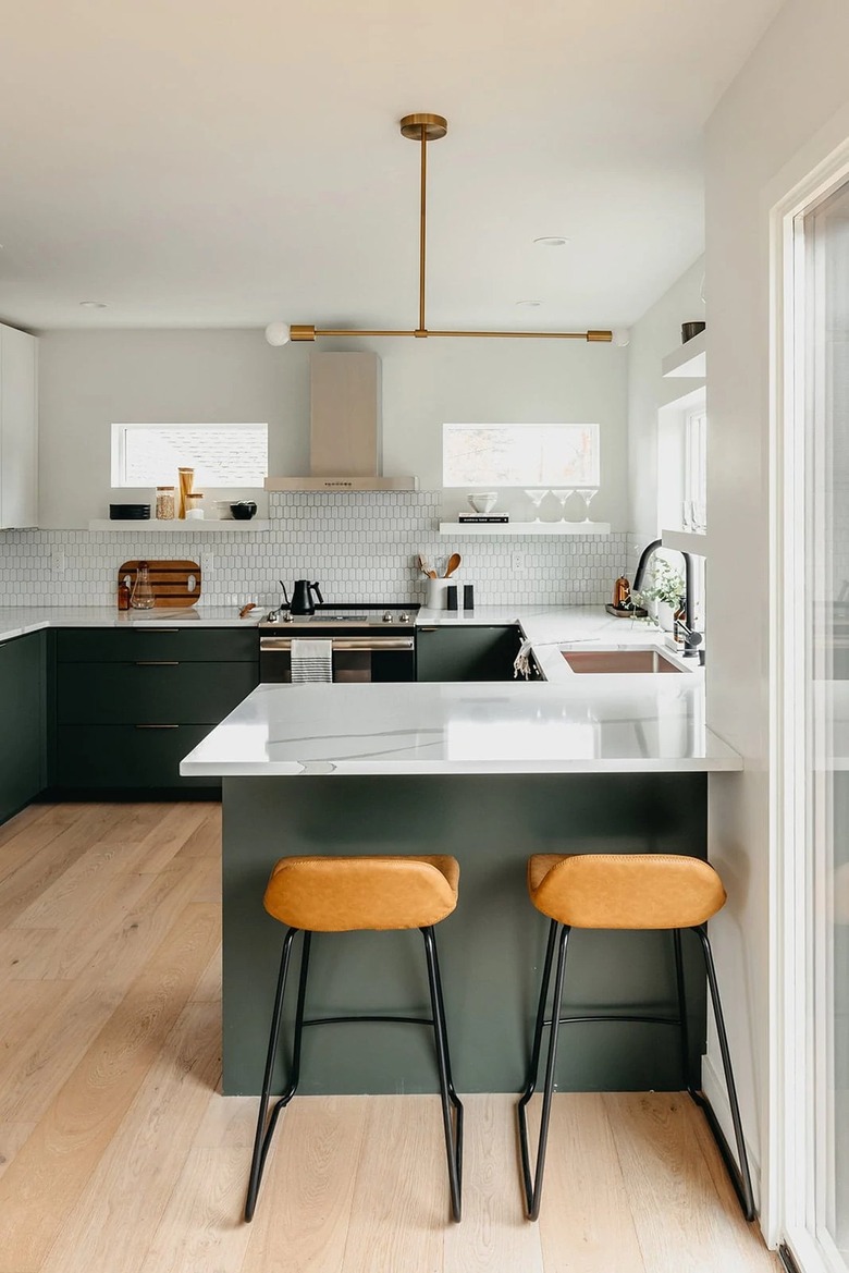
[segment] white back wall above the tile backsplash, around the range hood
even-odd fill
[[[386,474],[415,474],[423,490],[439,489],[444,421],[598,421],[602,489],[593,519],[628,528],[626,350],[518,340],[374,348],[383,365]],[[308,472],[308,345],[271,349],[260,331],[46,332],[41,526],[84,527],[107,516],[115,421],[267,420],[272,472]]]

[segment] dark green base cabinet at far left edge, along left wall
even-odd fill
[[[45,636],[0,645],[0,822],[46,785]]]

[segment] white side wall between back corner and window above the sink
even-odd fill
[[[667,354],[681,345],[681,323],[706,318],[701,300],[704,270],[704,258],[699,257],[631,327],[628,383],[629,499],[631,528],[640,544],[650,542],[663,530],[658,521],[658,411],[668,398],[670,382],[663,379],[661,364]],[[677,384],[681,386],[682,382],[678,381]]]

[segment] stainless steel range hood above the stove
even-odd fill
[[[381,474],[377,354],[309,355],[309,476],[266,477],[266,490],[417,490]]]

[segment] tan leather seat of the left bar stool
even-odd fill
[[[265,909],[290,928],[314,933],[428,928],[454,910],[456,858],[281,858]]]

